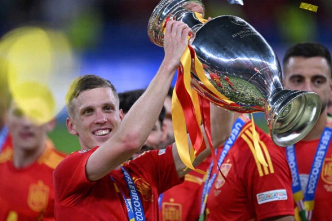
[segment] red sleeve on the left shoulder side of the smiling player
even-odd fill
[[[55,198],[57,201],[68,204],[75,203],[80,200],[75,197],[88,192],[93,186],[94,182],[87,179],[85,166],[96,149],[76,151],[64,158],[57,166],[54,171]]]

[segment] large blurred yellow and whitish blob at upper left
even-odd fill
[[[22,27],[0,41],[1,75],[7,76],[15,103],[36,123],[45,123],[64,107],[64,94],[74,78],[69,42],[57,30]],[[2,78],[1,78],[2,79]]]

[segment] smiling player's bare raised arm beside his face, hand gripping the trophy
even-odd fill
[[[90,181],[107,175],[111,170],[139,151],[149,136],[162,109],[168,88],[180,66],[188,45],[191,29],[184,23],[169,21],[164,37],[164,59],[145,93],[122,119],[114,135],[91,154],[86,173]]]

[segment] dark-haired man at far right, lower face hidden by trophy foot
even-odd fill
[[[331,91],[331,54],[319,43],[299,43],[283,59],[283,85],[287,89],[315,92],[322,111],[314,128],[301,141],[287,147],[293,175],[297,220],[330,221],[332,218],[332,136],[328,121]]]

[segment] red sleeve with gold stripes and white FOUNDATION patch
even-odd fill
[[[249,167],[253,169],[248,169],[246,176],[248,197],[253,202],[257,220],[294,216],[292,176],[282,147],[275,146],[265,134],[260,133],[260,139],[269,166],[258,166],[254,157],[251,157]]]

